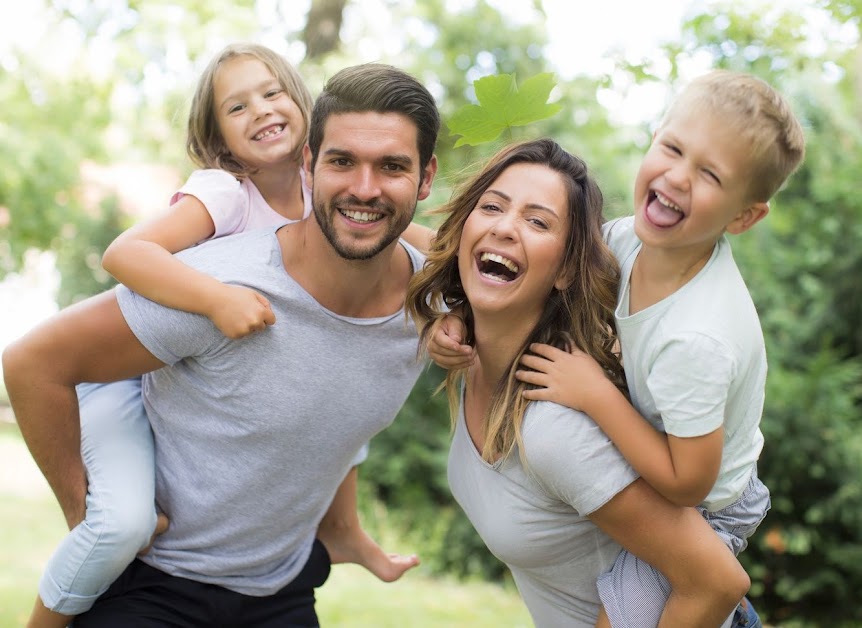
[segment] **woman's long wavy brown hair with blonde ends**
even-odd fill
[[[577,347],[595,358],[614,384],[626,391],[614,323],[619,266],[602,239],[602,193],[589,175],[587,165],[550,139],[502,149],[478,175],[456,190],[449,203],[434,211],[446,218],[437,231],[425,267],[414,275],[407,291],[407,311],[422,330],[420,346],[425,346],[432,324],[449,310],[461,313],[467,328],[465,342],[474,344],[470,302],[458,273],[461,232],[482,194],[504,170],[519,163],[540,164],[562,175],[567,188],[570,232],[560,272],[572,281],[565,290],[552,290],[538,323],[507,375],[497,384],[486,417],[482,447],[482,457],[488,462],[508,456],[516,445],[523,451],[521,424],[529,402],[521,393],[528,385],[515,379],[515,371],[531,343],[541,342],[565,350]],[[464,375],[464,370],[457,370],[446,376],[453,424]],[[572,382],[572,386],[576,385],[577,382]]]

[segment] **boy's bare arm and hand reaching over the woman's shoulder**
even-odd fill
[[[532,345],[524,355],[519,380],[540,388],[524,391],[527,399],[553,401],[590,416],[629,464],[661,495],[681,506],[696,506],[718,477],[724,430],[679,438],[659,432],[632,407],[582,351],[571,353]]]

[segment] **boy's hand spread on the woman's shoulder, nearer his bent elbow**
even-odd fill
[[[599,363],[578,349],[568,353],[536,343],[530,351],[534,355],[525,353],[521,365],[532,370],[518,370],[515,377],[540,388],[525,390],[525,399],[553,401],[589,414],[592,393],[611,383]]]

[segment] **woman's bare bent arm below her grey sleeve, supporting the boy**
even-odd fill
[[[588,515],[668,579],[664,626],[720,626],[748,591],[748,574],[694,508],[671,504],[643,479]]]

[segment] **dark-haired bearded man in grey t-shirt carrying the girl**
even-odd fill
[[[120,287],[4,353],[21,431],[72,522],[87,487],[75,384],[148,373],[171,526],[76,625],[316,625],[329,571],[317,523],[421,370],[402,306],[422,260],[398,238],[430,193],[438,130],[409,75],[370,64],[332,77],[304,154],[313,216],[182,253],[266,296],[265,331],[231,341]]]

